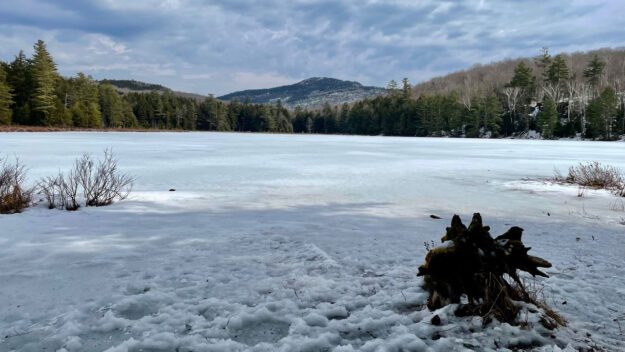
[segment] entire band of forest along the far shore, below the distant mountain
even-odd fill
[[[608,57],[609,70],[606,55],[577,67],[570,56],[544,50],[511,61],[496,79],[478,67],[415,87],[391,81],[386,94],[352,104],[289,110],[171,91],[120,93],[82,73],[62,77],[40,40],[31,58],[20,52],[0,62],[0,125],[483,138],[536,131],[613,140],[625,134],[625,61],[612,68],[624,52],[615,53],[621,56]]]

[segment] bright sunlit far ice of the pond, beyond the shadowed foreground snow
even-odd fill
[[[508,182],[566,173],[597,160],[625,170],[625,143],[223,133],[32,133],[0,135],[33,179],[112,148],[135,190],[180,192],[238,206],[387,203],[534,215],[558,199],[501,192]],[[200,204],[201,205],[201,204]]]

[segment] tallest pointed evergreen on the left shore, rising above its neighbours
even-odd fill
[[[58,73],[56,64],[43,40],[39,40],[35,44],[31,70],[34,87],[31,97],[31,110],[35,114],[35,121],[33,122],[46,125],[50,123],[55,108],[56,95],[54,89]]]

